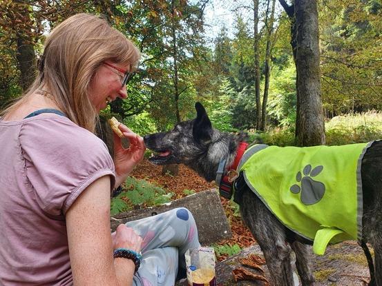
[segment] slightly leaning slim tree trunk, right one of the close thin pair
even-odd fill
[[[262,112],[261,112],[261,130],[267,129],[267,102],[269,93],[269,76],[271,75],[271,37],[274,31],[274,9],[276,0],[272,0],[271,16],[268,21],[268,8],[267,6],[267,20],[265,25],[267,25],[267,48],[265,50],[265,83],[264,83],[264,94],[262,96]]]

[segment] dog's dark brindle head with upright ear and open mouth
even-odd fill
[[[195,103],[195,119],[178,123],[169,132],[144,136],[146,147],[155,152],[149,160],[157,165],[191,163],[206,152],[213,134],[211,121],[201,103]]]

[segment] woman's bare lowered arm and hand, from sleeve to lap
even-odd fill
[[[70,265],[75,285],[132,285],[135,265],[113,259],[110,232],[110,177],[89,185],[66,212]],[[142,238],[120,225],[117,247],[140,252]],[[114,242],[115,244],[115,242]]]

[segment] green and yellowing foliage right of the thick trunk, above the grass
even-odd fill
[[[325,111],[334,116],[381,109],[381,1],[320,2]]]

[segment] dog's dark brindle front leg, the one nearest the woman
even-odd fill
[[[251,190],[243,192],[240,212],[264,253],[273,285],[293,286],[292,249],[286,242],[284,226]]]

